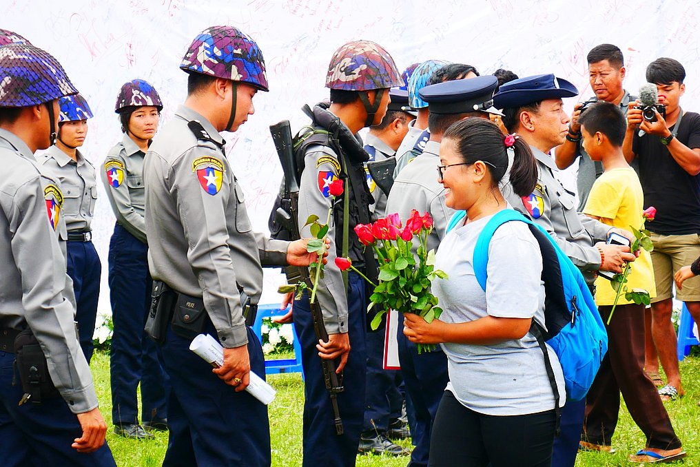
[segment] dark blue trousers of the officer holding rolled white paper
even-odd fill
[[[204,333],[218,338],[211,321]],[[190,351],[190,342],[171,328],[160,347],[171,386],[163,466],[269,466],[267,405],[225,384],[209,363]],[[248,356],[251,371],[265,379],[262,347],[251,328]]]

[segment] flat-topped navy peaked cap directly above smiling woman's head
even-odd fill
[[[428,102],[430,113],[487,112],[503,115],[493,108],[493,91],[497,86],[496,76],[486,75],[433,84],[418,93],[421,99]]]

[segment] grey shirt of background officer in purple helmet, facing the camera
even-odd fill
[[[146,243],[144,220],[144,151],[124,134],[107,155],[102,182],[114,216],[131,235]]]

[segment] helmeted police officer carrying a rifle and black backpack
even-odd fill
[[[355,135],[363,127],[377,125],[389,103],[389,88],[401,85],[401,76],[391,55],[377,43],[353,41],[331,57],[325,86],[330,88],[330,106],[317,104],[312,110],[314,128],[332,132],[337,144],[311,144],[304,153],[299,193],[299,228],[309,235],[305,220],[312,214],[326,218],[332,197],[328,183],[344,180],[342,202],[333,204],[328,237],[331,240],[329,262],[348,256],[368,277],[377,275],[372,252],[363,248],[353,228],[370,222],[371,195],[367,189],[364,162],[369,156]],[[349,209],[345,211],[345,197]],[[347,235],[345,237],[345,235]],[[343,238],[347,249],[344,251]],[[331,262],[332,263],[332,262]],[[364,422],[365,314],[366,285],[356,273],[347,274],[347,288],[341,272],[325,269],[318,282],[318,303],[328,332],[328,342],[318,344],[309,312],[309,296],[295,302],[294,322],[302,343],[304,365],[304,466],[354,466]],[[339,358],[345,390],[338,394],[344,434],[337,435],[333,412],[323,382],[321,358]]]

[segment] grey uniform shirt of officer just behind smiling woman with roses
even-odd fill
[[[444,188],[437,181],[440,165],[440,143],[428,141],[423,153],[415,158],[395,179],[386,203],[386,211],[398,212],[405,222],[411,210],[429,212],[435,226],[428,236],[428,251],[437,250],[447,231],[447,223],[455,213],[444,204]],[[417,246],[416,246],[417,247]]]

